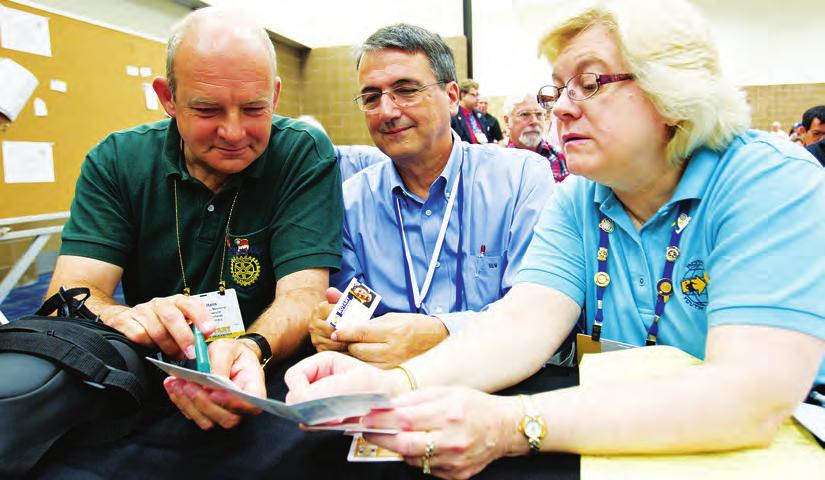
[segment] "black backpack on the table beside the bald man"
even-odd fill
[[[145,360],[156,352],[103,324],[84,305],[89,295],[61,288],[0,326],[0,478],[24,474],[61,438],[109,442],[169,408]]]

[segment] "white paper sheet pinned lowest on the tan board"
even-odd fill
[[[3,174],[6,183],[54,182],[52,144],[3,142]]]

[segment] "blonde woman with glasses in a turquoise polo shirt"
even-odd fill
[[[287,374],[290,399],[496,391],[538,370],[580,316],[594,340],[705,361],[524,404],[422,388],[365,418],[404,430],[369,438],[425,472],[462,477],[531,450],[765,445],[817,378],[825,172],[798,146],[747,130],[745,97],[686,1],[570,3],[577,11],[542,43],[554,73],[539,101],[578,177],[547,205],[516,285],[472,329],[398,369],[305,360]]]

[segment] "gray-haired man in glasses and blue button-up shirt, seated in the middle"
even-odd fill
[[[452,131],[459,87],[438,35],[382,28],[362,45],[357,68],[355,103],[392,161],[344,183],[343,261],[330,284],[343,289],[358,277],[383,299],[376,318],[333,331],[325,319],[340,292],[330,289],[310,334],[318,350],[389,368],[510,289],[554,183],[541,156],[470,145]]]

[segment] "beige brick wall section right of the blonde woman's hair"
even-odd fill
[[[770,130],[771,122],[782,122],[787,132],[802,120],[805,110],[825,104],[825,83],[745,87],[754,128]]]

